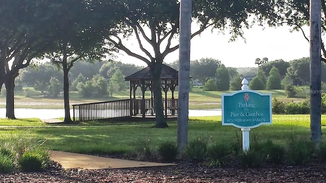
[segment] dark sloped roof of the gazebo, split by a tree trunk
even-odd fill
[[[131,74],[130,76],[125,77],[126,81],[130,80],[141,80],[141,79],[152,79],[153,77],[150,74],[149,67],[144,68],[136,73]],[[171,79],[178,80],[178,71],[162,64],[161,79]]]

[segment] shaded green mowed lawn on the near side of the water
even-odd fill
[[[326,133],[326,115],[322,115],[322,132]],[[273,125],[252,129],[251,141],[273,140],[286,144],[291,138],[310,139],[309,115],[273,115]],[[28,121],[22,123],[29,123]],[[135,149],[150,142],[155,148],[164,141],[176,141],[176,121],[169,122],[168,129],[151,128],[153,124],[120,125],[111,127],[72,127],[72,128],[2,128],[3,142],[13,138],[26,138],[37,142],[45,140],[43,147],[82,154],[132,154]],[[238,128],[222,126],[221,116],[191,117],[188,139],[203,138],[209,143],[234,142],[240,140]],[[323,141],[326,140],[322,136]]]

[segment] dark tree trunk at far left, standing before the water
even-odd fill
[[[8,73],[5,81],[6,85],[6,117],[16,119],[14,109],[14,88],[15,74]]]

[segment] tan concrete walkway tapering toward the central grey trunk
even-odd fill
[[[151,167],[151,166],[170,166],[171,163],[152,163],[121,160],[114,158],[103,158],[76,153],[67,153],[63,151],[50,150],[50,159],[58,162],[65,169],[106,169],[106,168],[132,168],[132,167]]]

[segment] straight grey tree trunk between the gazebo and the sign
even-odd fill
[[[179,97],[178,97],[178,150],[183,151],[188,141],[190,40],[191,40],[192,1],[180,3],[179,38]]]

